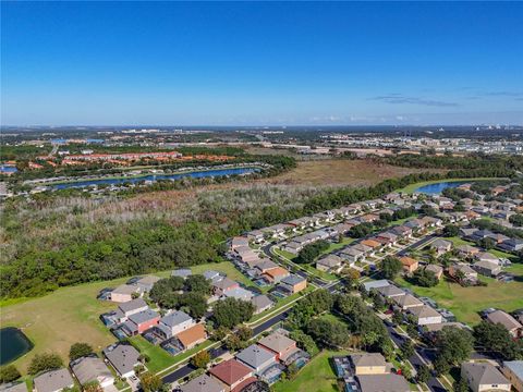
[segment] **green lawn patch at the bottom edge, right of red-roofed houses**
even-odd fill
[[[300,370],[293,380],[277,382],[275,392],[335,392],[339,391],[338,380],[330,366],[329,358],[336,355],[346,355],[348,352],[324,351]]]

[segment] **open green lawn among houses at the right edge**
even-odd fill
[[[435,299],[439,306],[450,309],[459,321],[474,324],[479,321],[478,311],[488,308],[500,308],[512,311],[523,307],[523,265],[514,265],[507,269],[518,274],[520,280],[510,283],[498,282],[491,278],[482,278],[486,287],[462,287],[445,279],[434,287],[419,287],[402,278],[396,281],[399,285],[409,287],[419,296]]]

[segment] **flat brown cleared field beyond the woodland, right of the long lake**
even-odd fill
[[[287,185],[369,186],[386,179],[423,171],[430,170],[400,168],[372,160],[325,159],[300,161],[296,169],[263,181]]]

